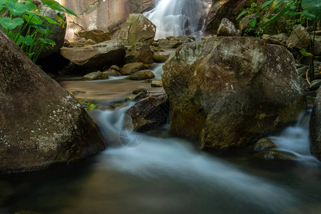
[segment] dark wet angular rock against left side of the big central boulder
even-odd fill
[[[165,93],[145,98],[126,112],[126,127],[133,131],[145,132],[167,122],[169,114],[168,99]]]

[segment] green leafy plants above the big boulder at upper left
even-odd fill
[[[41,0],[51,9],[67,14],[73,11],[54,0]],[[0,0],[0,25],[2,30],[16,42],[18,46],[36,62],[39,54],[44,49],[52,49],[56,44],[48,37],[56,26],[63,28],[65,23],[61,14],[56,15],[56,20],[50,19],[39,13],[37,6],[32,0]],[[62,21],[61,21],[62,20]]]

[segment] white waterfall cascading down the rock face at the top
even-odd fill
[[[209,6],[205,0],[160,0],[144,15],[156,25],[155,39],[162,39],[200,31]]]

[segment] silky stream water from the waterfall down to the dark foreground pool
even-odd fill
[[[193,34],[200,21],[193,21],[190,11],[202,10],[201,2],[178,0],[174,9],[170,0],[161,0],[146,16],[180,23],[164,25],[158,38],[175,36],[172,33],[178,31],[179,35]],[[182,11],[187,12],[182,15]],[[153,68],[158,80],[162,65]],[[255,158],[250,151],[200,151],[195,142],[170,136],[169,125],[144,134],[127,131],[123,118],[133,105],[133,101],[126,101],[131,92],[137,88],[146,88],[150,94],[163,91],[151,88],[150,83],[123,76],[103,81],[81,81],[79,77],[57,81],[76,98],[98,104],[98,109],[88,113],[108,148],[75,165],[1,175],[1,214],[321,213],[321,164],[310,155],[309,111],[302,113],[295,126],[269,137],[277,150],[296,158],[267,161]]]

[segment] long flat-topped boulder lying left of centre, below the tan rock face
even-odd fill
[[[78,66],[101,68],[121,63],[125,56],[125,46],[119,41],[103,41],[92,46],[75,48],[63,47],[60,54]]]

